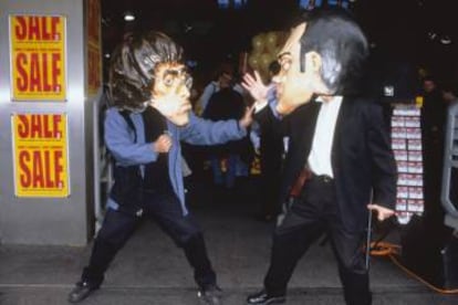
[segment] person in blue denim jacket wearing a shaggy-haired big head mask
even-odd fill
[[[199,297],[220,304],[221,291],[204,235],[185,203],[180,140],[211,145],[242,138],[251,113],[247,111],[239,120],[215,123],[195,116],[189,103],[191,81],[183,49],[160,32],[129,34],[115,49],[110,66],[114,107],[105,117],[115,182],[89,265],[69,302],[79,303],[101,286],[116,253],[147,218],[184,250]]]

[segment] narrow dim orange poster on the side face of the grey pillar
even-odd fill
[[[87,1],[87,91],[90,95],[98,92],[102,85],[101,53],[101,3]]]

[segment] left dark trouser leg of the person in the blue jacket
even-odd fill
[[[105,271],[134,232],[137,221],[138,219],[134,215],[112,209],[107,210],[102,228],[94,241],[90,263],[83,270],[83,282],[89,282],[93,287],[98,287],[102,284]]]

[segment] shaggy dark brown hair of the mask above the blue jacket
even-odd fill
[[[112,55],[108,88],[118,107],[143,108],[150,98],[159,63],[181,63],[183,49],[162,32],[127,34]]]

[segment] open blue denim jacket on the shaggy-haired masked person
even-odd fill
[[[152,143],[145,143],[142,113],[131,113],[129,116],[137,130],[136,141],[134,130],[128,127],[119,109],[112,107],[106,112],[105,117],[105,144],[112,152],[116,166],[139,166],[140,172],[144,175],[145,165],[156,161],[158,154],[153,150]],[[188,210],[185,204],[180,140],[194,145],[223,144],[244,137],[247,130],[240,127],[236,119],[211,122],[197,117],[194,113],[190,113],[189,124],[186,126],[178,127],[167,120],[167,128],[173,139],[168,152],[168,175],[173,189],[181,203],[183,213],[186,215]],[[114,210],[119,208],[112,198],[108,198],[107,207]]]

